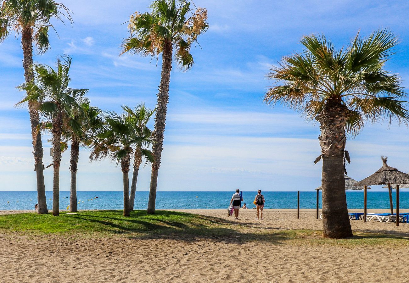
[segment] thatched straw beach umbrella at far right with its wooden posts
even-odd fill
[[[391,184],[409,184],[409,175],[398,171],[398,169],[387,165],[388,157],[381,157],[382,167],[366,177],[364,180],[357,182],[355,186],[365,186],[364,189],[364,222],[366,222],[366,186],[369,185],[388,185],[389,188],[389,202],[391,205],[391,214],[393,214],[392,204],[392,190]],[[396,186],[396,226],[399,226],[399,185]]]

